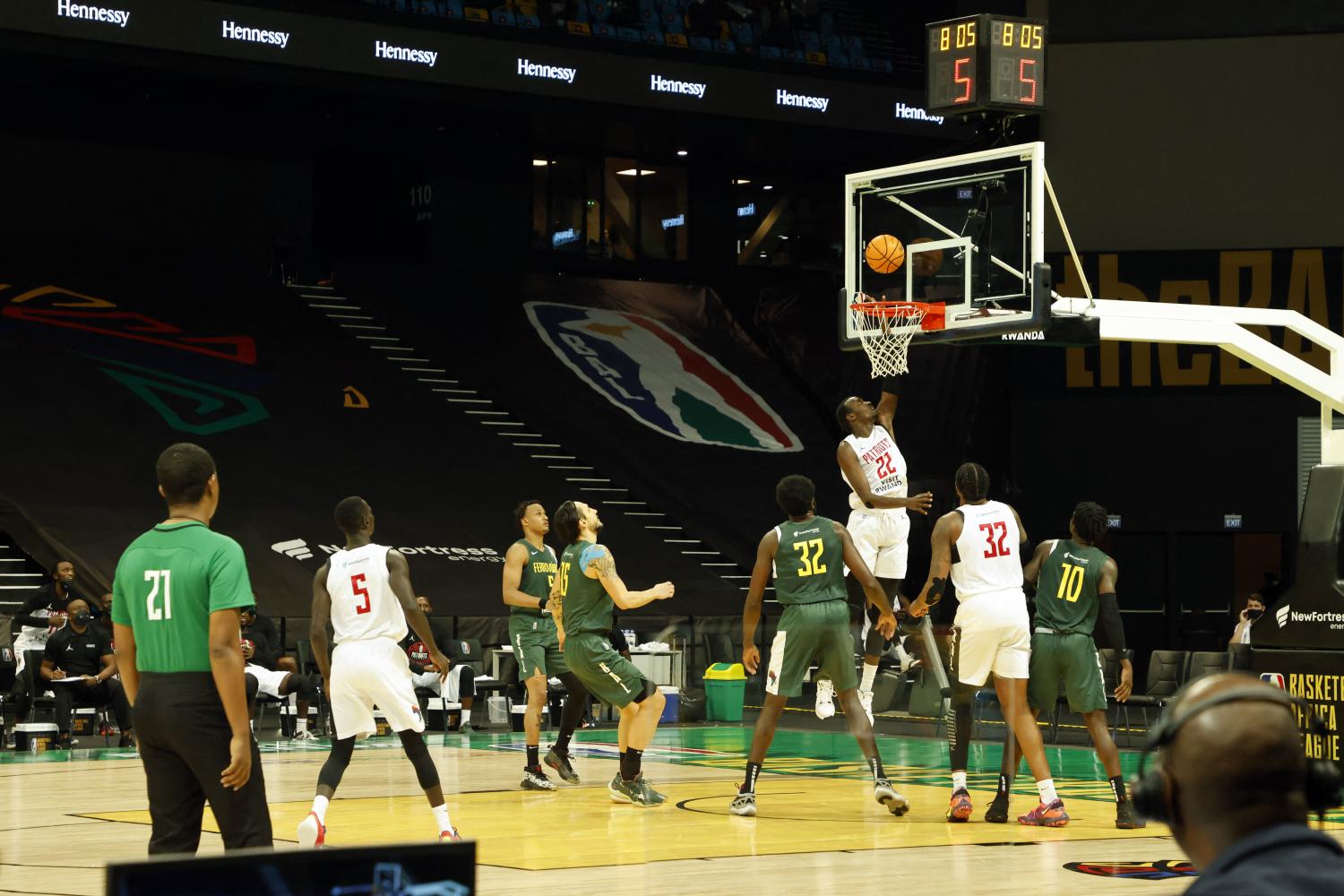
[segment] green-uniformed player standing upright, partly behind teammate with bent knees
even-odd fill
[[[527,766],[523,767],[521,787],[555,790],[555,782],[546,776],[538,762],[546,684],[552,677],[559,678],[569,692],[560,713],[560,731],[555,746],[546,754],[546,764],[571,785],[579,783],[579,776],[570,762],[570,737],[587,707],[587,688],[564,665],[555,615],[546,607],[558,571],[555,551],[544,541],[551,531],[546,508],[540,501],[520,501],[513,508],[513,521],[521,527],[523,537],[504,553],[504,603],[509,610],[508,635],[517,660],[517,677],[527,686],[527,712],[523,715]]]

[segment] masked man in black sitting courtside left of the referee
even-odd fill
[[[74,746],[70,739],[70,719],[74,707],[112,707],[121,728],[121,747],[133,747],[130,704],[117,674],[117,657],[112,642],[93,622],[89,604],[75,598],[66,604],[66,627],[47,638],[42,657],[42,678],[56,697],[56,729],[59,748]],[[67,684],[51,684],[63,681]]]

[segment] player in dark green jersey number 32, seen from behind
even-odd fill
[[[802,677],[813,656],[821,657],[823,670],[840,689],[840,703],[849,723],[849,732],[872,770],[872,795],[895,815],[909,809],[882,768],[882,756],[872,736],[872,723],[859,703],[853,674],[853,635],[849,634],[849,603],[845,599],[841,563],[863,586],[872,606],[878,607],[874,627],[890,638],[896,617],[878,580],[868,571],[853,539],[839,523],[816,514],[816,486],[805,476],[786,476],[774,488],[774,500],[789,519],[765,533],[757,548],[751,587],[742,611],[742,665],[755,674],[761,652],[755,646],[755,629],[761,621],[761,599],[774,572],[774,596],[784,604],[780,629],[770,646],[766,673],[766,697],[751,752],[747,776],[728,806],[734,815],[755,815],[755,782],[761,763],[774,740],[775,725],[789,697],[802,693]]]

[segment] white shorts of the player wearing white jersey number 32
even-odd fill
[[[976,595],[957,607],[952,669],[964,685],[981,686],[989,673],[1025,678],[1031,668],[1031,623],[1021,588]]]

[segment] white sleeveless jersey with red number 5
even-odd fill
[[[382,544],[337,551],[327,571],[336,643],[406,637],[406,613],[392,594],[387,552]]]

